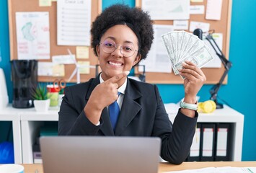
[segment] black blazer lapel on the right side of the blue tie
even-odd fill
[[[123,98],[123,105],[115,128],[115,136],[119,136],[141,110],[141,105],[136,102],[136,99],[140,97],[141,93],[131,85],[128,79],[125,89],[125,97]]]

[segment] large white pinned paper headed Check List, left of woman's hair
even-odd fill
[[[57,2],[57,45],[90,45],[92,0]]]

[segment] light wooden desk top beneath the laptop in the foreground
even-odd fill
[[[42,164],[22,164],[25,167],[24,173],[43,173]],[[159,164],[159,173],[180,171],[184,169],[199,169],[204,167],[256,167],[256,161],[211,161],[211,162],[183,162],[180,165],[169,163]]]

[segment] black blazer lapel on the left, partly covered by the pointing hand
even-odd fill
[[[95,78],[95,79],[92,80],[92,83],[91,83],[91,85],[89,86],[87,95],[86,95],[86,97],[85,97],[86,102],[88,101],[90,95],[92,94],[93,89],[94,89],[98,84],[100,84],[100,75],[98,75],[97,78]],[[103,133],[105,136],[114,136],[114,131],[112,130],[112,125],[111,125],[111,123],[110,123],[110,117],[109,117],[109,115],[108,115],[107,107],[105,107],[105,108],[102,110],[101,118],[102,118],[102,120],[103,120],[103,122],[104,122],[103,125],[102,125],[102,127],[100,128],[100,130],[102,131],[102,133]]]

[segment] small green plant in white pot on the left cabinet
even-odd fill
[[[34,99],[35,110],[38,112],[45,112],[49,109],[50,99],[48,98],[48,91],[46,86],[37,84],[32,87],[32,98]]]

